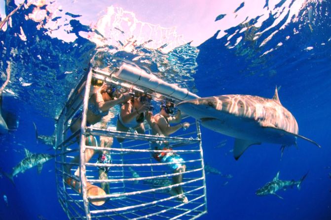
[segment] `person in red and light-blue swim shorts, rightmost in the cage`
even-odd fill
[[[147,118],[147,122],[149,125],[156,124],[157,126],[151,126],[153,134],[158,135],[165,135],[169,136],[170,134],[178,131],[179,129],[183,128],[186,129],[190,126],[189,123],[184,122],[182,124],[178,124],[175,126],[170,126],[172,123],[180,123],[182,121],[182,114],[181,111],[178,110],[176,116],[172,116],[174,113],[174,103],[170,100],[166,100],[162,103],[160,107],[160,112],[154,116],[149,115]],[[155,129],[155,127],[157,129]],[[152,156],[159,162],[168,163],[174,162],[169,164],[170,168],[173,170],[174,173],[182,173],[185,172],[186,166],[184,164],[184,159],[176,153],[169,152],[171,146],[168,142],[158,143],[152,142],[151,147],[153,150],[164,150],[164,152],[155,152]],[[173,177],[173,184],[179,184],[183,181],[183,174],[179,174]],[[184,191],[182,186],[173,187],[170,189],[169,193],[172,196],[180,195],[178,200],[183,203],[188,202],[187,197],[184,195]]]

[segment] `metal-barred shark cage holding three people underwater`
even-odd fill
[[[138,70],[144,71],[139,68]],[[56,184],[58,199],[62,208],[71,220],[193,220],[199,218],[207,213],[207,200],[201,133],[198,122],[193,121],[192,118],[184,118],[184,121],[190,123],[190,127],[185,131],[176,132],[178,135],[171,137],[152,135],[147,124],[145,124],[146,134],[121,132],[107,127],[86,126],[92,78],[103,79],[108,84],[117,87],[153,94],[153,97],[156,97],[156,94],[181,101],[181,98],[169,95],[166,90],[162,93],[159,89],[148,88],[148,85],[142,86],[140,83],[137,85],[132,82],[134,81],[132,79],[116,77],[116,71],[118,73],[120,68],[113,72],[90,68],[88,74],[80,80],[72,91],[57,119]],[[161,82],[163,86],[169,85],[163,82]],[[70,123],[74,123],[72,122],[73,115],[81,109],[81,129],[71,133]],[[80,137],[79,145],[78,135]],[[112,137],[113,145],[110,148],[86,145],[85,137],[89,135]],[[125,138],[125,141],[119,143],[116,138]],[[152,141],[168,141],[172,146],[171,151],[181,155],[185,160],[186,171],[183,173],[182,183],[173,184],[172,178],[178,174],[172,173],[168,168],[167,165],[171,162],[157,162],[151,156],[154,152],[162,152],[152,150],[150,147]],[[85,152],[88,149],[96,152],[110,152],[111,163],[97,163],[95,156],[89,161],[85,161]],[[79,162],[72,162],[72,159],[78,154]],[[68,167],[71,167],[70,171],[68,171]],[[80,169],[79,176],[75,176],[74,172],[78,167]],[[108,179],[99,179],[100,167],[110,167],[107,174]],[[71,180],[71,182],[67,180]],[[109,194],[89,193],[91,186],[101,189],[101,184],[109,186]],[[181,195],[169,193],[173,187],[180,185],[188,198],[187,203],[178,200]]]

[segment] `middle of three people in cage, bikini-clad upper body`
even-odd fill
[[[153,106],[150,104],[151,97],[147,94],[131,94],[128,102],[122,105],[117,119],[116,130],[127,132],[130,128],[138,133],[145,134],[144,120],[147,114],[151,114]],[[117,138],[119,143],[124,138]]]

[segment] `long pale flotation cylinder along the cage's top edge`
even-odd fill
[[[180,100],[199,98],[198,95],[189,92],[187,89],[167,83],[155,75],[147,73],[144,69],[127,63],[123,63],[112,76]]]

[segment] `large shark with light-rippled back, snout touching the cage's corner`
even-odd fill
[[[199,120],[201,125],[235,138],[233,155],[238,159],[251,145],[262,142],[296,145],[298,134],[294,116],[280,102],[277,88],[273,98],[229,94],[180,102],[177,107]]]

